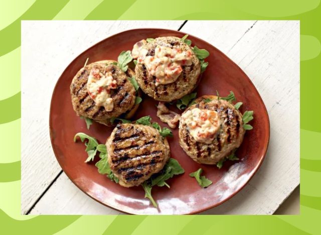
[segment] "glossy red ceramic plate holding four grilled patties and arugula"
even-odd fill
[[[174,138],[168,138],[171,156],[177,159],[185,169],[185,174],[168,180],[171,188],[154,187],[153,198],[158,203],[154,208],[144,198],[141,187],[124,188],[98,173],[95,162],[86,164],[85,146],[73,142],[76,133],[84,132],[105,143],[112,128],[94,123],[87,130],[84,120],[74,112],[71,104],[69,86],[77,71],[89,63],[99,60],[117,60],[123,50],[131,50],[134,43],[144,38],[162,36],[183,37],[178,31],[164,29],[135,29],[113,35],[92,46],[65,69],[54,89],[50,107],[50,136],[57,160],[71,179],[83,192],[98,202],[131,214],[193,214],[217,206],[231,198],[250,180],[260,167],[269,142],[269,119],[265,105],[247,75],[226,55],[211,44],[194,36],[189,36],[192,45],[205,48],[210,52],[209,62],[197,88],[198,96],[216,94],[226,96],[230,90],[235,93],[243,105],[240,110],[254,110],[253,130],[247,131],[241,147],[237,151],[240,161],[225,162],[221,170],[216,166],[200,165],[188,157],[179,145],[178,130],[173,130]],[[150,115],[151,118],[167,126],[156,116],[156,102],[146,95],[133,120]],[[213,181],[208,188],[201,188],[189,173],[203,168],[207,178]],[[63,190],[63,189],[62,189]]]

